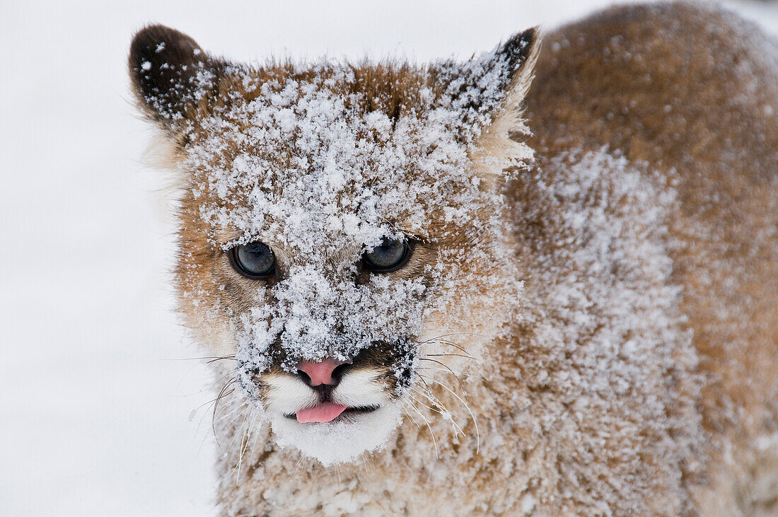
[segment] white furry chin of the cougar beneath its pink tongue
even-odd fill
[[[395,402],[325,423],[302,424],[284,414],[271,417],[277,445],[298,449],[324,466],[356,461],[363,452],[380,449],[400,421],[401,406]]]

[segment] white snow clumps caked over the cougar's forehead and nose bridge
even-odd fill
[[[482,68],[486,58],[475,65]],[[197,171],[194,193],[209,200],[200,215],[211,225],[214,243],[218,232],[237,230],[240,236],[220,246],[274,243],[288,269],[279,285],[260,286],[258,304],[235,321],[237,357],[251,372],[268,367],[276,341],[292,369],[300,359],[348,360],[376,342],[419,337],[436,310],[436,296],[426,292],[461,274],[441,260],[416,278],[373,276],[369,285],[355,285],[349,273],[382,237],[436,244],[451,237],[446,232],[474,237],[464,250],[441,247],[442,259],[452,253],[475,257],[478,243],[505,239],[498,220],[482,217],[501,213],[503,200],[482,189],[473,172],[468,145],[478,133],[461,134],[464,118],[486,122],[471,107],[475,93],[465,89],[452,101],[423,86],[413,110],[392,120],[365,109],[348,66],[321,62],[313,70],[307,79],[293,71],[264,82],[233,70],[245,75],[246,92],[198,121],[198,138],[181,165]],[[491,90],[504,75],[498,66],[478,84],[489,89],[483,113],[495,109],[499,92]],[[449,89],[462,84],[457,79]],[[350,89],[356,93],[344,97]],[[514,168],[530,156],[515,146]],[[445,232],[431,234],[433,222]],[[497,246],[496,253],[510,262],[507,250]],[[263,302],[268,295],[272,304]]]

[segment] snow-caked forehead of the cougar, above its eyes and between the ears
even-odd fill
[[[332,78],[246,88],[254,95],[235,93],[187,146],[200,215],[215,228],[286,233],[303,247],[322,236],[375,243],[398,225],[424,235],[433,217],[464,222],[485,202],[451,131],[459,114],[423,88],[397,117],[365,110],[364,93],[343,96]]]

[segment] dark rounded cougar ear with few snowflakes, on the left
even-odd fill
[[[170,131],[196,117],[198,103],[218,91],[223,69],[191,37],[163,25],[135,34],[128,65],[138,103]]]

